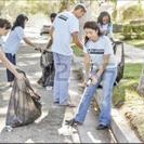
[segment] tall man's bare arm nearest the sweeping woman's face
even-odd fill
[[[73,32],[71,36],[73,36],[73,42],[74,42],[77,47],[79,47],[80,49],[83,49],[83,44],[82,44],[82,42],[81,42],[80,39],[79,39],[78,32]]]

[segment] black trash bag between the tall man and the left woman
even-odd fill
[[[53,61],[53,53],[50,51],[44,51],[40,57],[40,66],[42,68],[42,76],[38,80],[38,83],[42,87],[54,84],[54,61]]]

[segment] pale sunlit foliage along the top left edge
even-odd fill
[[[50,14],[52,12],[57,12],[60,6],[60,1],[50,0],[19,0],[15,2],[14,0],[0,0],[0,14],[3,16],[8,14],[9,16],[16,16],[19,13],[36,14],[43,13]],[[12,11],[14,10],[14,11]]]

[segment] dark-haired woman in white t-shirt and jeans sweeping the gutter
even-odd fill
[[[82,125],[94,96],[96,89],[101,81],[103,81],[103,99],[101,105],[101,113],[99,118],[97,130],[107,129],[110,126],[110,109],[113,87],[117,76],[117,61],[114,55],[110,40],[103,36],[96,22],[87,22],[84,24],[86,31],[86,48],[84,58],[88,79],[88,88],[80,101],[80,106],[75,118],[66,120],[67,125]],[[92,68],[90,70],[90,64]]]

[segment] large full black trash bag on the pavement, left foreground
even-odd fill
[[[9,102],[5,125],[12,128],[25,126],[34,122],[40,116],[40,96],[34,91],[29,80],[26,76],[24,80],[15,79]]]

